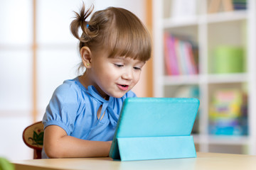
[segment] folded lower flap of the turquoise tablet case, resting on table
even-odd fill
[[[117,137],[114,159],[122,161],[196,157],[193,136]],[[117,151],[117,154],[118,154]]]

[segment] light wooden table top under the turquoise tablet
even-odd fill
[[[74,159],[30,159],[12,162],[16,170],[46,169],[256,169],[256,156],[245,154],[197,153],[196,158],[120,162],[110,157]]]

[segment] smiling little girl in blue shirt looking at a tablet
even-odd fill
[[[130,90],[151,55],[149,33],[137,16],[110,7],[86,21],[92,10],[83,5],[70,24],[85,72],[64,81],[50,99],[43,158],[107,157],[122,103],[136,97]]]

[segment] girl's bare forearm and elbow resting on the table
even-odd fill
[[[45,129],[43,147],[50,158],[108,157],[112,142],[81,140],[68,136],[63,128],[50,125]]]

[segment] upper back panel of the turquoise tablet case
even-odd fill
[[[197,98],[127,98],[119,115],[110,157],[120,159],[118,139],[191,135],[198,107]]]

